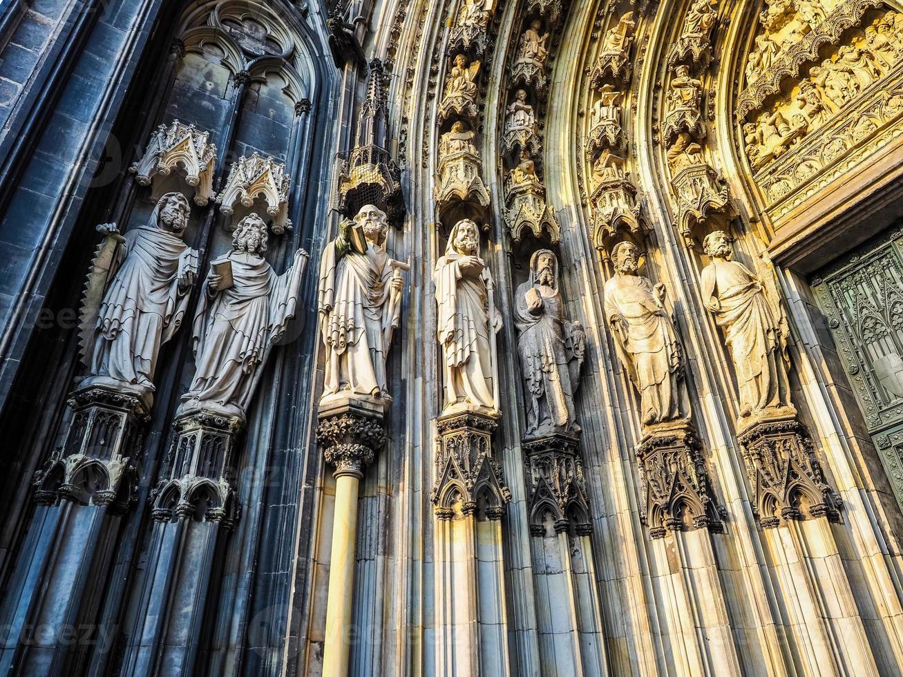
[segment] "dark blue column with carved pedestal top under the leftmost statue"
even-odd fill
[[[93,386],[70,397],[65,442],[34,478],[38,504],[23,560],[24,594],[5,600],[2,672],[80,672],[86,655],[70,641],[97,627],[122,516],[135,502],[135,452],[147,411],[141,399]],[[30,630],[30,628],[32,628]],[[34,628],[40,635],[29,636]],[[107,636],[112,628],[99,628]]]

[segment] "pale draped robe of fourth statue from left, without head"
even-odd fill
[[[491,326],[495,317],[490,316],[495,309],[489,308],[489,268],[484,267],[478,277],[467,276],[461,272],[461,255],[449,249],[433,274],[439,307],[437,337],[444,355],[443,409],[461,404],[462,409],[496,411]]]

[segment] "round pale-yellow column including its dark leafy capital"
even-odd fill
[[[330,585],[326,602],[323,676],[344,677],[349,671],[354,553],[358,537],[358,489],[364,468],[386,443],[383,408],[358,400],[321,405],[317,441],[326,462],[335,466],[335,513],[330,553]]]

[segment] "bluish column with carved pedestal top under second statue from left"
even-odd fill
[[[192,410],[173,422],[163,472],[151,496],[142,612],[129,628],[123,675],[193,672],[201,619],[222,564],[219,551],[240,515],[234,483],[237,416]]]

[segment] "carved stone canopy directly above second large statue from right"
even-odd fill
[[[638,242],[648,232],[637,189],[626,178],[603,181],[590,196],[592,202],[592,244],[603,261],[610,260],[618,235],[628,232]]]

